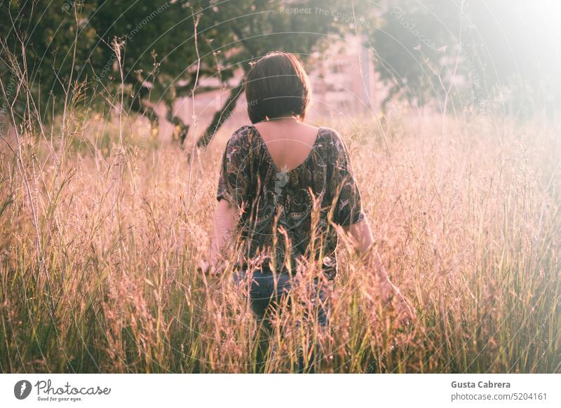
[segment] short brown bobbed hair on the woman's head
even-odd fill
[[[302,62],[290,53],[265,55],[248,73],[245,97],[251,123],[287,116],[304,119],[311,87]]]

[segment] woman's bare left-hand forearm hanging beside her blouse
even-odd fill
[[[215,219],[212,226],[212,238],[210,240],[210,259],[208,262],[201,263],[201,269],[205,272],[216,271],[220,261],[222,261],[222,250],[227,244],[231,231],[236,225],[237,211],[234,205],[228,200],[219,200]]]

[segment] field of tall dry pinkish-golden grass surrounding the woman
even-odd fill
[[[308,336],[320,372],[561,372],[558,125],[326,123],[417,321],[393,324],[342,243],[327,329],[295,325],[302,287],[268,339],[230,269],[196,271],[233,129],[189,154],[68,123],[0,142],[1,372],[290,372]]]

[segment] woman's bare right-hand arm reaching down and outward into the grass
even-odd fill
[[[374,240],[372,239],[370,224],[366,216],[363,221],[349,226],[343,226],[343,230],[352,238],[351,242],[353,243],[353,247],[360,255],[365,266],[373,271],[376,276],[380,285],[382,301],[388,303],[393,300],[394,307],[400,319],[405,321],[413,320],[415,317],[413,308],[410,306],[407,299],[403,297],[403,294],[400,293],[398,287],[391,283],[378,251],[372,249]]]

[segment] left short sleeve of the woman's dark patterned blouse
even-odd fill
[[[217,200],[227,200],[238,208],[247,201],[249,154],[247,127],[240,128],[230,137],[222,154]]]

